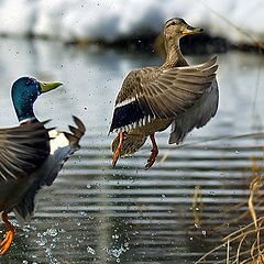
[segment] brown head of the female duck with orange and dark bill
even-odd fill
[[[163,30],[165,42],[176,42],[184,35],[201,33],[204,30],[188,25],[183,19],[175,18],[168,20]]]

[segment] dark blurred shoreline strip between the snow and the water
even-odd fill
[[[28,41],[47,41],[47,42],[59,42],[66,46],[80,46],[86,48],[89,46],[98,46],[100,48],[118,48],[127,50],[129,52],[146,52],[153,53],[157,52],[163,55],[161,51],[161,44],[158,43],[158,36],[155,34],[150,34],[148,36],[134,36],[134,37],[123,37],[116,40],[113,42],[106,42],[103,40],[89,40],[89,38],[76,38],[74,41],[64,41],[59,37],[50,37],[44,35],[8,35],[0,34],[0,38],[9,40],[28,40]],[[261,46],[256,44],[241,43],[233,44],[221,36],[211,36],[207,33],[189,35],[180,40],[180,48],[184,54],[211,54],[211,53],[227,53],[230,51],[241,51],[241,52],[254,52],[260,53]]]

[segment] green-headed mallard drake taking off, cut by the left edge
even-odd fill
[[[51,186],[69,155],[79,150],[85,125],[74,117],[77,128],[68,132],[45,129],[33,112],[33,103],[43,92],[61,82],[40,82],[22,77],[12,86],[13,106],[19,128],[0,130],[0,211],[8,231],[1,243],[4,254],[13,240],[14,228],[8,213],[14,211],[19,222],[30,220],[34,212],[34,198],[43,186]]]

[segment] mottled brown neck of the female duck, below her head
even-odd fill
[[[180,52],[179,40],[169,40],[165,42],[165,50],[166,61],[162,66],[163,68],[188,66],[188,63]]]

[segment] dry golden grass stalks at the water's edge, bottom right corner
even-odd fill
[[[263,158],[264,160],[264,158]],[[227,264],[263,264],[264,263],[264,166],[263,160],[252,160],[252,175],[253,178],[250,183],[250,195],[246,202],[241,202],[237,207],[228,210],[235,211],[240,207],[248,204],[248,210],[229,221],[240,227],[237,231],[226,235],[222,239],[222,243],[209,251],[196,263],[205,263],[209,256],[212,256],[223,248],[227,249],[226,260],[213,263],[227,263]],[[195,195],[196,196],[196,195]],[[223,212],[223,213],[227,213]],[[250,218],[249,218],[250,216]],[[249,220],[250,219],[250,222]],[[195,221],[197,219],[195,218]],[[249,222],[245,226],[241,223]],[[223,223],[224,226],[227,223]],[[219,228],[219,227],[217,227]],[[213,228],[216,229],[216,227]],[[232,250],[231,250],[232,249]],[[208,262],[207,262],[208,263]]]

